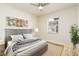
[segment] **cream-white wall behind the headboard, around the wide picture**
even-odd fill
[[[35,28],[37,17],[35,15],[23,12],[7,4],[0,4],[0,39],[4,39],[4,29],[6,27],[6,16],[24,18],[29,22],[29,28]]]

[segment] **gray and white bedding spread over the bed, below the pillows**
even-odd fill
[[[38,55],[40,51],[46,50],[48,47],[47,41],[42,39],[26,39],[9,45],[5,50],[7,56],[32,56]]]

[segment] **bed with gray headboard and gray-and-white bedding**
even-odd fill
[[[26,31],[26,32],[25,32]],[[31,29],[6,29],[6,50],[4,54],[6,56],[40,56],[42,55],[48,48],[47,41],[43,39],[39,39],[36,37],[25,38],[18,37],[17,41],[11,40],[11,35],[19,35],[27,34],[32,32]],[[26,35],[27,36],[27,35]],[[14,38],[15,39],[15,38]],[[9,45],[8,42],[11,42]]]

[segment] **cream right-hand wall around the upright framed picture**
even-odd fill
[[[49,18],[59,17],[59,32],[56,34],[47,33],[47,21]],[[39,17],[39,36],[42,39],[70,43],[70,27],[77,23],[77,7],[67,8],[52,12]]]

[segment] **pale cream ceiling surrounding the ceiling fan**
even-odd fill
[[[77,6],[77,3],[50,3],[44,6],[42,11],[30,3],[9,3],[9,5],[35,15],[44,15],[60,9]]]

